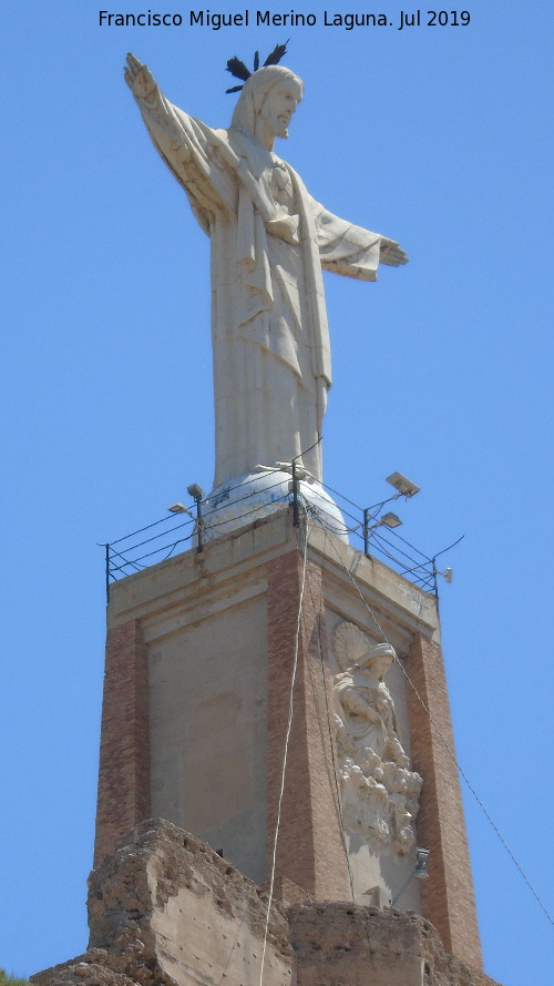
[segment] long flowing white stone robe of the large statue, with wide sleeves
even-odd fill
[[[327,212],[238,131],[206,126],[158,89],[137,102],[212,242],[214,486],[295,457],[320,481],[331,384],[321,267],[375,281],[380,236]]]

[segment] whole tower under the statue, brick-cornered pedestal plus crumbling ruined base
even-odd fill
[[[287,506],[122,579],[90,945],[37,986],[493,986],[451,750],[434,597]]]

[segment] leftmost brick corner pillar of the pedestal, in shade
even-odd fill
[[[94,866],[150,815],[148,665],[138,621],[107,632]]]

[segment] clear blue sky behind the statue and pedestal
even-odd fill
[[[226,59],[290,38],[306,90],[279,152],[410,255],[378,284],[326,277],[326,480],[365,506],[400,469],[421,486],[404,536],[433,555],[465,535],[441,586],[459,760],[554,909],[552,6],[478,0],[468,27],[422,11],[403,31],[393,4],[394,26],[352,31],[294,9],[318,26],[101,28],[90,0],[3,12],[0,966],[18,975],[86,946],[96,542],[213,474],[208,242],[123,83],[127,50],[219,126]],[[548,986],[552,925],[465,801],[486,970]]]

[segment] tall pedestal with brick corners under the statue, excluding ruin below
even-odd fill
[[[380,851],[349,827],[356,811],[340,793],[334,646],[345,621],[380,643],[372,613],[452,748],[435,599],[311,524],[309,512],[296,528],[278,509],[115,582],[95,865],[133,825],[157,816],[267,885],[284,779],[278,883],[314,901],[349,901],[353,888],[358,904],[402,892],[397,906],[428,917],[450,952],[479,967],[456,768],[399,662],[387,687],[399,741],[423,777],[416,842],[403,855],[393,845]],[[416,845],[430,850],[429,880],[409,880]]]

